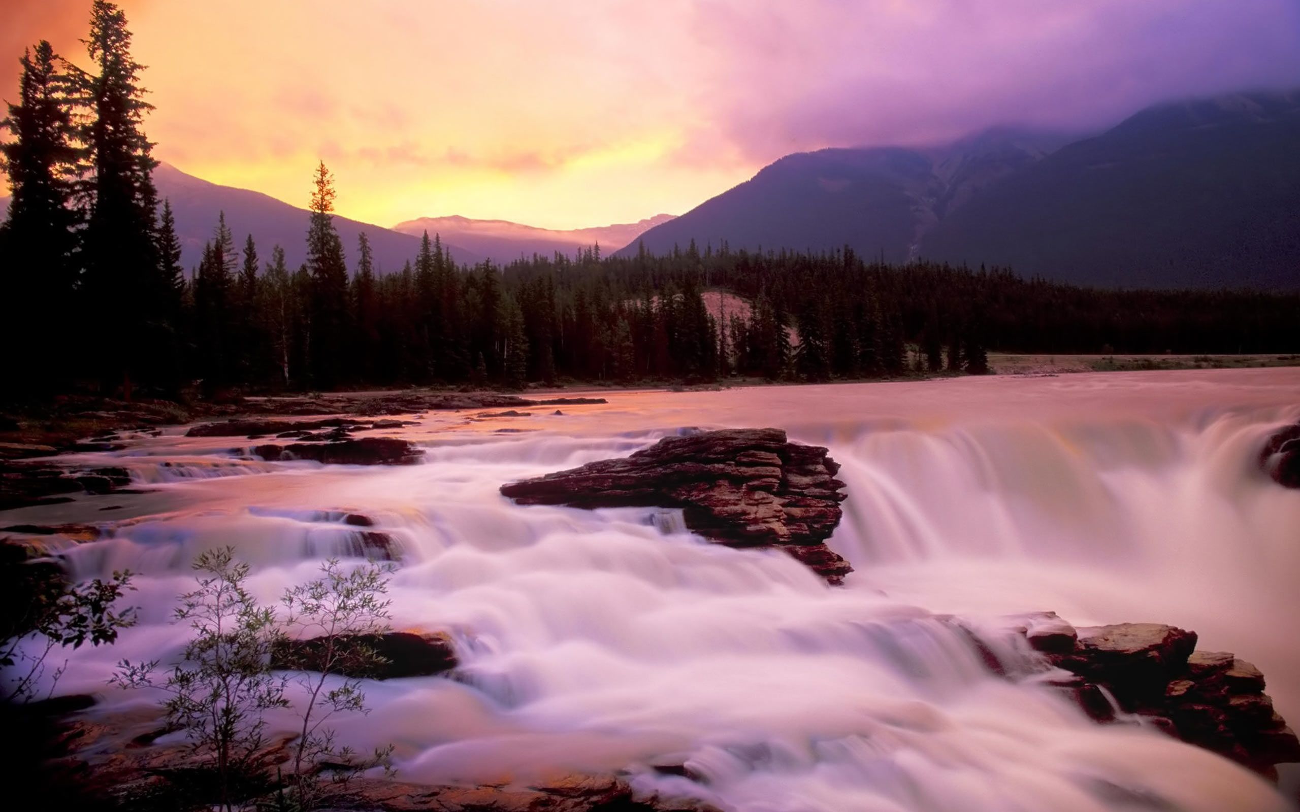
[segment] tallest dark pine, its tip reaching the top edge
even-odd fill
[[[81,134],[90,160],[83,240],[87,304],[121,325],[121,340],[100,344],[98,361],[101,379],[121,381],[129,396],[133,375],[155,373],[150,353],[164,318],[151,296],[162,273],[156,246],[157,161],[142,129],[153,105],[144,101],[138,83],[144,66],[131,58],[126,14],[113,3],[95,0],[90,22],[84,42],[98,73],[82,74],[90,108]]]

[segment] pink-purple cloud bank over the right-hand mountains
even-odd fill
[[[712,57],[698,103],[759,160],[1300,83],[1292,0],[701,0],[693,32]]]

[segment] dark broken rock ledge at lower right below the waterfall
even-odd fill
[[[1075,629],[1052,613],[1024,626],[1030,646],[1074,674],[1058,685],[1098,721],[1114,708],[1152,720],[1166,733],[1265,776],[1300,761],[1300,741],[1273,709],[1264,674],[1223,651],[1197,651],[1196,633],[1160,624]]]

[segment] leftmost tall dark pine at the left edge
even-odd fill
[[[66,312],[77,285],[73,229],[79,216],[73,207],[73,173],[78,151],[68,104],[69,79],[48,42],[35,53],[23,52],[18,104],[0,126],[13,140],[0,144],[4,170],[13,194],[4,236],[5,268],[0,285],[10,307],[0,320],[4,377],[17,377],[38,390],[66,379],[70,348],[64,330],[40,330],[39,321],[57,308]],[[30,338],[43,334],[42,340]]]

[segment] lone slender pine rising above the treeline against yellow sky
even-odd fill
[[[309,364],[316,386],[329,388],[346,377],[347,264],[334,229],[334,178],[325,161],[316,169],[307,229],[307,270],[312,278]]]

